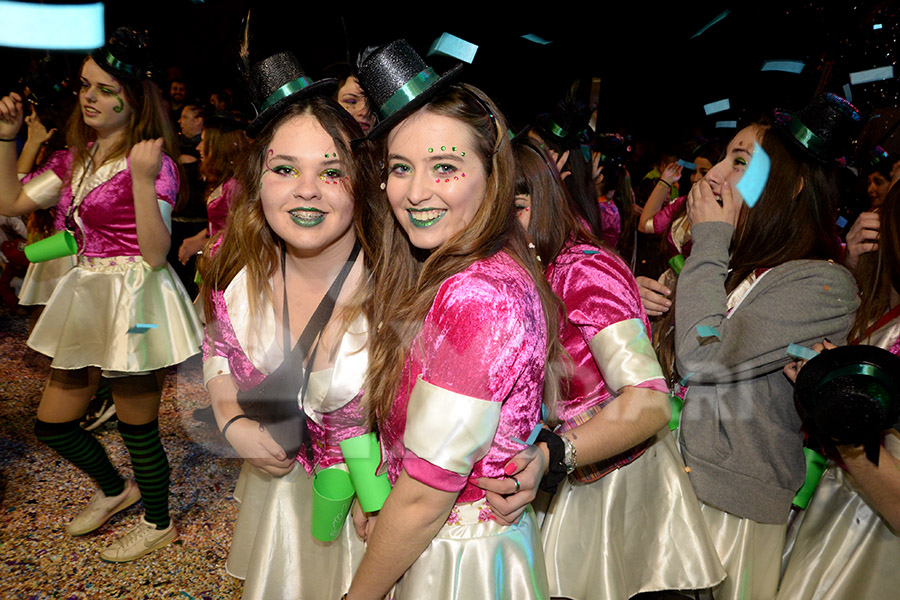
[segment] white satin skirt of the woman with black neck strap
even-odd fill
[[[350,588],[365,546],[350,515],[335,541],[312,536],[312,479],[303,467],[273,477],[244,461],[238,492],[225,569],[244,580],[244,600],[337,599]]]

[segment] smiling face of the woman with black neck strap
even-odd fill
[[[298,115],[278,128],[264,169],[263,213],[292,255],[349,251],[355,239],[351,188],[337,145],[315,117]]]

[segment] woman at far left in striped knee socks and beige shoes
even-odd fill
[[[28,339],[53,358],[35,434],[100,487],[66,527],[70,535],[97,529],[143,498],[138,525],[100,555],[117,562],[175,539],[157,417],[165,367],[196,354],[201,335],[165,259],[178,195],[170,158],[176,146],[148,66],[145,35],[125,28],[87,58],[69,150],[24,186],[15,177],[13,145],[0,142],[2,211],[24,214],[58,203],[56,229],[78,242],[78,266],[56,286]],[[21,98],[0,100],[0,138],[11,138],[21,123]],[[122,479],[78,425],[101,373],[112,381],[136,484]]]

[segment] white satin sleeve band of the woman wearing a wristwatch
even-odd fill
[[[589,345],[607,388],[614,394],[625,386],[663,378],[640,319],[613,323],[595,335]]]

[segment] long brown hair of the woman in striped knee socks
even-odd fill
[[[82,62],[82,66],[88,60],[87,57]],[[99,66],[99,65],[98,65]],[[110,75],[110,77],[113,77]],[[142,140],[152,140],[163,138],[163,152],[170,158],[177,158],[178,141],[175,137],[175,131],[169,122],[169,116],[163,103],[162,93],[159,87],[149,79],[118,79],[113,77],[119,85],[122,86],[122,92],[125,95],[125,101],[131,107],[131,120],[126,128],[125,135],[119,144],[110,150],[106,156],[107,160],[120,158],[127,155],[131,148]],[[88,144],[97,140],[97,131],[84,122],[81,116],[81,105],[76,104],[75,110],[69,117],[66,125],[66,140],[69,148],[74,151],[73,164],[82,163],[85,167],[99,165],[93,164],[93,157],[88,151]],[[88,163],[91,163],[90,165]],[[184,181],[184,172],[175,161],[178,167],[178,175],[181,181]],[[183,188],[183,186],[181,186]],[[179,189],[179,196],[182,190]]]

